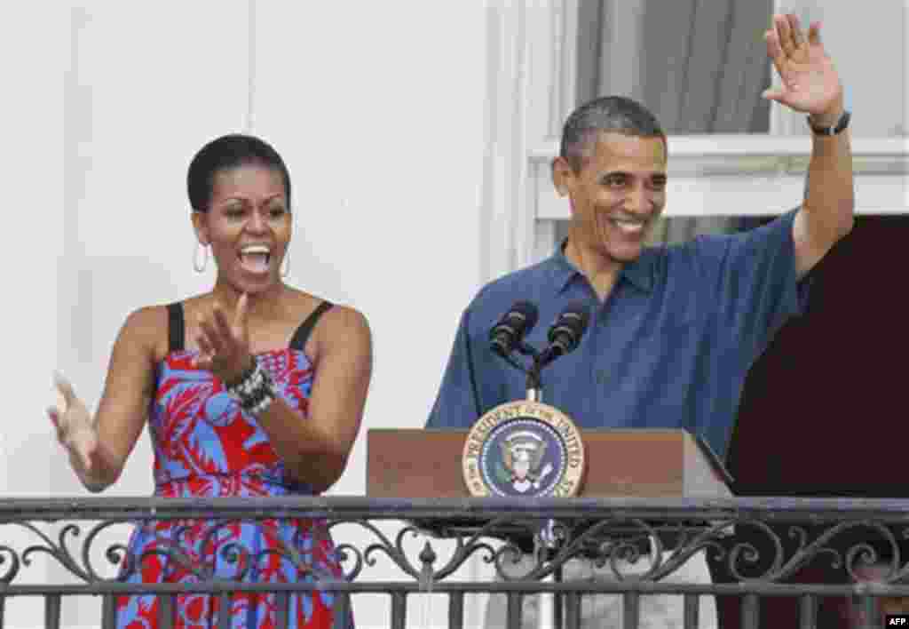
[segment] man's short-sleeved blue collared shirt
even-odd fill
[[[519,299],[540,320],[538,349],[573,301],[590,309],[574,352],[543,371],[543,401],[582,428],[682,428],[720,456],[745,376],[784,321],[804,310],[795,272],[796,210],[750,231],[644,249],[601,302],[584,275],[554,255],[487,284],[461,318],[427,428],[469,428],[526,397],[526,377],[489,349],[489,330]]]

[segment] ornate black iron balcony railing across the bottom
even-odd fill
[[[325,522],[342,560],[343,577],[322,570],[291,546],[256,551],[215,543],[232,523],[298,518]],[[190,560],[181,552],[177,534],[176,543],[157,548],[155,554],[166,555],[188,578],[182,583],[127,583],[148,557],[132,556],[125,539],[111,541],[106,533],[125,523],[165,520],[187,527],[205,522],[203,545],[215,549],[206,555],[210,562]],[[400,522],[397,532],[387,533],[383,521]],[[345,525],[359,529],[352,536],[355,542],[345,539],[350,536]],[[0,532],[0,627],[5,626],[5,603],[23,596],[43,596],[44,624],[56,627],[66,597],[100,596],[104,612],[102,617],[99,608],[99,622],[115,626],[115,596],[155,594],[161,602],[159,626],[167,627],[175,623],[176,597],[186,593],[211,594],[221,609],[241,593],[270,593],[279,626],[287,622],[288,601],[295,593],[331,593],[338,619],[359,595],[383,593],[391,601],[390,618],[380,624],[360,620],[358,626],[395,629],[405,626],[408,599],[424,593],[447,595],[451,627],[464,626],[464,596],[470,593],[504,593],[508,626],[514,627],[519,626],[522,597],[528,593],[553,593],[554,626],[565,627],[579,626],[586,595],[620,594],[624,626],[629,628],[638,626],[641,597],[654,593],[684,597],[686,628],[696,626],[698,597],[704,594],[741,597],[746,628],[760,626],[758,601],[765,596],[797,597],[804,628],[818,626],[817,604],[824,597],[857,597],[869,626],[880,622],[873,614],[876,599],[909,597],[909,585],[904,584],[909,563],[901,554],[909,540],[909,501],[902,500],[11,499],[0,501]],[[197,528],[194,534],[198,539]],[[441,543],[443,538],[451,542]],[[664,582],[702,551],[724,566],[731,583]],[[256,564],[275,553],[294,566],[299,578],[291,583],[251,581]],[[28,581],[27,568],[38,555],[63,568],[71,583]],[[646,570],[626,572],[644,555],[651,560]],[[453,574],[474,556],[494,565],[494,579],[454,580]],[[613,578],[564,579],[564,567],[578,559]],[[874,583],[859,578],[862,566],[882,561],[886,569]],[[382,562],[397,571],[395,580],[370,575]],[[789,581],[811,563],[841,570],[843,582]],[[230,618],[222,616],[216,626],[229,626]]]

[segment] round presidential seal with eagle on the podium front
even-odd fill
[[[462,467],[467,490],[476,497],[569,497],[584,475],[584,443],[562,411],[538,401],[511,401],[474,423]]]

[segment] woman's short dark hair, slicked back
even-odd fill
[[[250,164],[274,168],[281,173],[287,207],[290,208],[290,173],[287,172],[284,159],[265,140],[239,133],[218,137],[195,154],[186,174],[190,206],[196,212],[207,212],[212,200],[215,175]]]

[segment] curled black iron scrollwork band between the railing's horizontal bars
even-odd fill
[[[904,565],[900,553],[901,544],[909,539],[909,526],[874,518],[847,522],[827,518],[812,521],[809,527],[781,526],[774,521],[774,513],[767,512],[762,517],[754,510],[741,517],[704,517],[697,520],[697,525],[691,524],[696,512],[686,513],[684,521],[675,516],[661,521],[623,513],[594,518],[589,512],[577,517],[559,513],[552,518],[544,512],[539,517],[529,517],[527,513],[503,516],[497,512],[495,517],[484,520],[482,512],[475,512],[474,525],[449,529],[444,535],[403,523],[394,536],[389,536],[375,522],[393,517],[400,521],[406,518],[407,509],[376,509],[371,513],[367,508],[355,517],[325,517],[323,524],[313,529],[317,536],[331,533],[335,537],[335,553],[344,569],[339,576],[317,565],[300,550],[303,546],[298,541],[278,543],[265,550],[237,542],[227,534],[230,527],[240,522],[244,526],[265,523],[252,510],[247,517],[235,511],[224,516],[217,512],[206,514],[211,522],[201,529],[195,520],[172,526],[152,550],[138,556],[130,552],[125,540],[106,546],[99,540],[111,527],[129,522],[143,526],[151,518],[84,524],[85,536],[78,523],[63,522],[55,538],[36,522],[7,519],[0,525],[0,532],[5,527],[16,527],[34,537],[35,543],[20,551],[0,533],[0,586],[17,583],[37,554],[50,557],[84,583],[124,581],[135,576],[145,562],[157,560],[166,564],[167,570],[182,571],[199,582],[244,581],[275,556],[293,566],[300,577],[315,581],[356,581],[384,557],[418,583],[422,591],[450,578],[474,556],[493,564],[498,578],[504,581],[545,579],[576,560],[589,562],[619,581],[659,581],[702,552],[710,553],[712,560],[723,563],[734,579],[745,583],[783,583],[813,562],[824,562],[834,570],[844,571],[849,579],[858,580],[864,565],[879,562],[882,548],[887,552],[888,567],[882,581],[909,581],[909,563]],[[86,513],[85,520],[91,515]],[[79,520],[78,512],[71,516],[74,521]],[[338,534],[342,526],[355,527],[359,530],[356,538],[369,541],[352,543]],[[742,536],[745,531],[749,534]],[[442,550],[440,538],[445,539],[448,550]],[[192,548],[205,552],[187,550]],[[115,576],[103,576],[104,571],[92,559],[98,555],[105,558],[108,568],[115,568]]]

